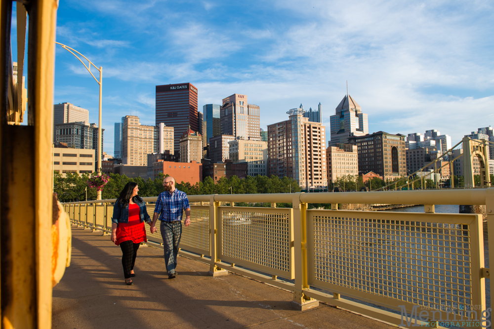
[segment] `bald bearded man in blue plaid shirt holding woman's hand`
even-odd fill
[[[155,223],[157,219],[160,219],[166,271],[168,279],[173,279],[178,274],[175,267],[177,266],[178,244],[182,235],[182,213],[185,211],[185,226],[189,226],[190,206],[187,194],[175,188],[173,177],[165,177],[163,186],[165,186],[165,192],[158,195],[151,223],[151,233],[158,230]]]

